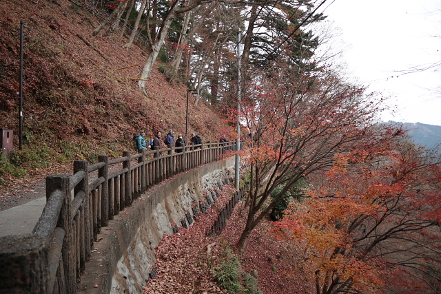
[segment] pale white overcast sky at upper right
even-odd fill
[[[323,8],[329,25],[340,28],[336,44],[346,44],[349,71],[397,105],[383,120],[441,125],[440,72],[402,74],[441,61],[440,1],[329,0]]]

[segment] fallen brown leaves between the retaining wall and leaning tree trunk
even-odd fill
[[[164,236],[155,249],[158,273],[147,282],[143,293],[226,293],[210,272],[217,260],[218,238],[208,237],[207,232],[233,191],[233,185],[225,185],[216,203],[200,213],[194,225],[189,229],[179,227],[179,233]]]

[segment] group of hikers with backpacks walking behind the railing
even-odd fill
[[[195,149],[201,148],[201,144],[202,144],[201,136],[192,133],[192,135],[190,137],[190,141],[191,141],[191,143],[193,143],[193,145],[199,145],[199,146],[196,146]],[[225,134],[223,134],[223,136],[221,136],[219,138],[219,142],[220,143],[228,142],[227,138],[225,137]],[[148,145],[148,147],[147,147],[147,145]],[[170,129],[170,131],[168,132],[168,134],[164,138],[162,138],[161,131],[156,132],[155,137],[152,140],[149,140],[148,143],[147,143],[147,140],[145,139],[145,130],[142,130],[141,134],[134,134],[134,147],[139,152],[141,152],[142,149],[150,148],[152,150],[158,150],[158,149],[163,149],[163,148],[169,147],[169,146],[181,147],[181,148],[176,148],[175,151],[182,152],[185,145],[187,145],[187,143],[185,142],[182,134],[179,134],[176,141],[174,140],[173,129]]]

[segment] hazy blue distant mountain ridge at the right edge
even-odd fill
[[[440,125],[427,125],[425,123],[398,123],[393,120],[389,120],[389,123],[402,125],[404,129],[408,130],[409,135],[418,145],[433,148],[441,144]]]

